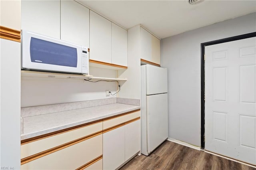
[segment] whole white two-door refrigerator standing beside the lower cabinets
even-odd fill
[[[141,65],[141,153],[168,138],[167,69]]]

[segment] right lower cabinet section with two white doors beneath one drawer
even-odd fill
[[[114,170],[140,151],[140,111],[103,121],[103,169]]]

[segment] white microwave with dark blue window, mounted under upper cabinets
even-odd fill
[[[89,73],[88,48],[33,32],[21,32],[21,68],[56,73]]]

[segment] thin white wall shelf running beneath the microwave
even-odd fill
[[[92,80],[107,80],[107,81],[126,81],[126,78],[108,78],[108,77],[88,77],[86,75],[67,74],[67,73],[50,73],[41,71],[26,71],[21,70],[21,77],[40,77],[40,78],[59,78],[59,79],[92,79]]]

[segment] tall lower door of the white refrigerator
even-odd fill
[[[167,98],[167,93],[146,97],[148,153],[168,138]]]

